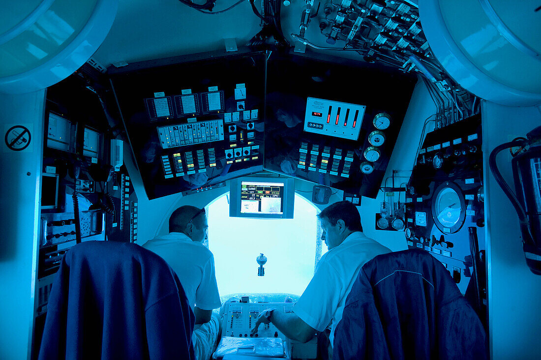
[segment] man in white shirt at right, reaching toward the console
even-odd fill
[[[374,256],[391,252],[362,233],[359,211],[349,201],[329,205],[318,217],[329,251],[316,265],[314,277],[293,306],[293,314],[267,309],[258,317],[253,334],[260,323],[272,322],[288,338],[307,342],[330,325],[332,346],[334,330],[362,265]]]

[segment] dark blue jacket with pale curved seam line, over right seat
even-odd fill
[[[333,360],[486,359],[485,341],[443,264],[412,249],[362,266],[335,330]]]

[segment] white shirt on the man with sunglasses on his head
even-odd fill
[[[170,232],[143,244],[143,248],[161,256],[176,272],[188,301],[202,310],[221,306],[214,256],[199,242],[192,241],[182,232]]]

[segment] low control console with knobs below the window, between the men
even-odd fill
[[[290,313],[293,312],[293,303],[226,303],[222,337],[279,337],[286,340],[287,337],[272,323],[260,324],[258,334],[251,334],[259,314],[269,308]]]

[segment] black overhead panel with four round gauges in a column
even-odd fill
[[[295,55],[267,71],[265,169],[375,198],[415,79]]]

